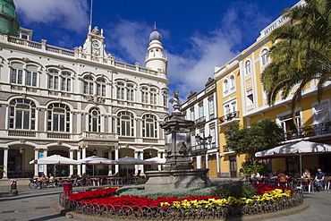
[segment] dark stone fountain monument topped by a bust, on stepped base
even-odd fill
[[[174,98],[171,98],[169,103],[174,105],[174,111],[167,122],[160,124],[165,130],[164,170],[145,172],[149,177],[145,191],[208,187],[209,169],[193,169],[192,166],[191,126],[194,122],[185,120],[178,90],[174,90]]]

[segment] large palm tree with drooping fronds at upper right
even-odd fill
[[[270,39],[269,64],[261,76],[269,105],[274,105],[278,94],[287,98],[292,89],[291,110],[301,102],[301,93],[310,81],[318,86],[318,101],[324,84],[331,80],[331,0],[306,0],[306,4],[285,9],[282,13],[291,21],[274,30]],[[277,83],[276,83],[277,82]]]

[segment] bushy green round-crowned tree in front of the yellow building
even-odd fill
[[[248,161],[256,161],[255,153],[276,147],[284,140],[284,131],[274,121],[265,118],[250,127],[241,128],[239,123],[229,125],[226,146],[237,154],[248,154]]]

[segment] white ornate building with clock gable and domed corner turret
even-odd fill
[[[150,34],[144,68],[106,54],[102,32],[89,28],[82,47],[73,50],[31,41],[31,30],[20,29],[18,37],[0,33],[4,177],[47,173],[46,165],[29,162],[54,154],[74,159],[163,156],[158,124],[168,115],[169,81],[161,35],[157,30]],[[136,173],[143,169],[135,166]],[[66,175],[91,174],[89,166],[57,167],[58,174],[62,170]],[[119,170],[97,166],[96,174]]]

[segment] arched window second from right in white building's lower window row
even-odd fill
[[[120,136],[133,136],[133,115],[128,111],[118,113],[117,134]]]

